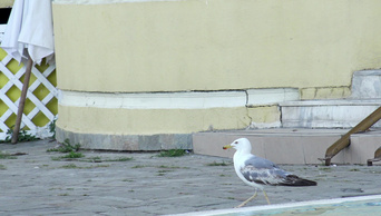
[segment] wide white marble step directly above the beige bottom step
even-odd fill
[[[351,128],[381,106],[381,99],[281,102],[284,128]],[[373,127],[381,127],[377,122]]]

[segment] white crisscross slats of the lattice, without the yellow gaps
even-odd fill
[[[26,72],[25,66],[17,72],[12,72],[9,69],[9,67],[7,67],[11,61],[12,58],[10,56],[6,56],[0,62],[0,76],[6,76],[8,78],[8,81],[3,86],[0,85],[0,110],[6,109],[4,112],[0,112],[0,140],[3,140],[7,137],[7,131],[11,129],[11,126],[9,126],[10,124],[7,124],[7,120],[9,120],[9,118],[11,117],[14,118],[14,115],[17,115],[18,111],[20,98],[18,98],[16,101],[12,101],[10,95],[14,95],[14,92],[21,91],[22,82],[20,80],[23,79],[20,78]],[[41,138],[51,136],[48,127],[49,124],[47,124],[43,127],[38,127],[35,124],[36,120],[33,118],[37,118],[37,116],[41,117],[41,114],[49,120],[49,122],[53,121],[57,118],[57,114],[53,114],[47,107],[47,105],[51,102],[55,98],[58,100],[58,90],[48,79],[48,77],[55,72],[55,69],[56,66],[50,65],[41,72],[37,67],[32,67],[31,72],[36,77],[36,79],[33,79],[35,81],[29,86],[27,100],[32,102],[35,107],[27,115],[23,114],[20,127],[29,128],[29,134],[36,135],[37,137]],[[4,80],[4,78],[2,80]],[[2,81],[2,84],[3,82],[4,81]],[[14,87],[20,89],[20,91],[14,90]],[[45,89],[49,92],[43,98],[41,98],[41,96],[37,96],[38,92],[36,95],[33,94],[35,91],[39,91],[39,89]],[[13,91],[13,94],[10,94],[10,91]]]

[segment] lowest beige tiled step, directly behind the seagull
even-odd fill
[[[253,146],[253,154],[276,164],[322,164],[318,158],[325,156],[325,150],[344,135],[346,129],[256,129],[193,135],[195,154],[233,157],[234,149],[223,150],[223,146],[246,137]],[[351,136],[351,145],[335,157],[332,164],[361,164],[374,157],[381,146],[381,130],[372,130]]]

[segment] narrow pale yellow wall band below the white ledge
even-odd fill
[[[147,111],[61,106],[58,122],[61,129],[75,132],[153,135],[231,129],[232,126],[241,129],[247,127],[250,120],[244,107]]]

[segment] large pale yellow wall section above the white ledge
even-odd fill
[[[57,3],[59,88],[349,86],[354,70],[381,67],[380,8],[379,0]]]

